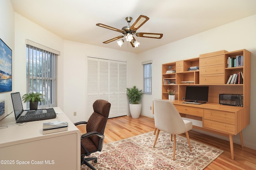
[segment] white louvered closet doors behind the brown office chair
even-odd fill
[[[87,119],[97,99],[111,103],[109,118],[127,115],[126,66],[126,62],[88,57]]]

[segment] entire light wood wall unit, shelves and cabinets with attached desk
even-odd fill
[[[243,147],[242,129],[250,124],[250,61],[251,53],[242,49],[232,52],[216,51],[202,54],[198,58],[162,64],[162,99],[168,100],[168,88],[175,90],[175,100],[172,103],[182,117],[202,121],[202,127],[193,125],[194,128],[229,135],[232,159],[233,135],[240,134]],[[167,74],[169,66],[176,72]],[[199,70],[188,71],[188,68],[195,66]],[[229,82],[232,77],[234,80]],[[165,81],[168,83],[164,83]],[[182,100],[185,98],[186,86],[209,86],[208,102],[201,105],[184,104]],[[220,105],[219,94],[242,96],[243,104]]]

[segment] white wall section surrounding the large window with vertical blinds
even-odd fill
[[[26,93],[26,43],[29,39],[36,43],[42,44],[51,49],[60,51],[58,56],[58,70],[57,70],[57,89],[58,101],[60,106],[63,106],[63,39],[51,33],[50,31],[40,27],[39,25],[27,20],[23,16],[15,13],[15,57],[14,57],[14,84],[13,92],[20,92],[20,95]],[[23,104],[26,108],[26,104]]]

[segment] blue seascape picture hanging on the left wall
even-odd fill
[[[12,91],[12,50],[0,39],[0,93]]]

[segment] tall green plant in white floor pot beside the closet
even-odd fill
[[[136,86],[133,86],[132,88],[126,88],[128,93],[128,99],[130,101],[130,112],[132,115],[132,118],[138,118],[140,117],[140,111],[141,111],[141,104],[139,104],[143,92],[142,90],[139,90]]]

